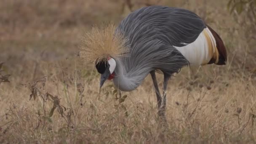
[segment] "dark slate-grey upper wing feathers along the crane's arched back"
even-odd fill
[[[165,6],[134,11],[119,26],[131,39],[130,44],[153,38],[178,47],[194,42],[205,27],[204,21],[195,13]]]

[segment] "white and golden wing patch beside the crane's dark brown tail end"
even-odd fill
[[[176,47],[191,65],[207,64],[212,57],[219,56],[216,41],[211,31],[206,27],[197,39],[183,47]]]

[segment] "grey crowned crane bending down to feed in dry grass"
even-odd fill
[[[93,27],[83,37],[81,56],[94,62],[100,88],[113,80],[120,91],[133,91],[150,74],[158,115],[165,117],[166,90],[173,73],[187,65],[224,65],[227,52],[221,37],[195,13],[149,6],[130,13],[115,27]],[[163,97],[155,71],[164,75]]]

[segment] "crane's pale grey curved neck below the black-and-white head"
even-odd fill
[[[115,61],[117,65],[114,71],[115,77],[113,78],[113,82],[121,91],[135,90],[151,71],[151,69],[145,69],[144,72],[127,72],[123,62],[120,59],[115,59]]]

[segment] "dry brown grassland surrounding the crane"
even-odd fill
[[[118,0],[4,0],[0,143],[255,143],[255,39],[240,27],[243,13],[233,19],[222,0],[160,3],[198,13],[228,52],[226,66],[202,67],[193,79],[184,68],[172,77],[165,131],[157,124],[150,77],[133,93],[119,96],[109,81],[99,94],[94,66],[74,55],[84,30],[120,21],[129,6]]]

